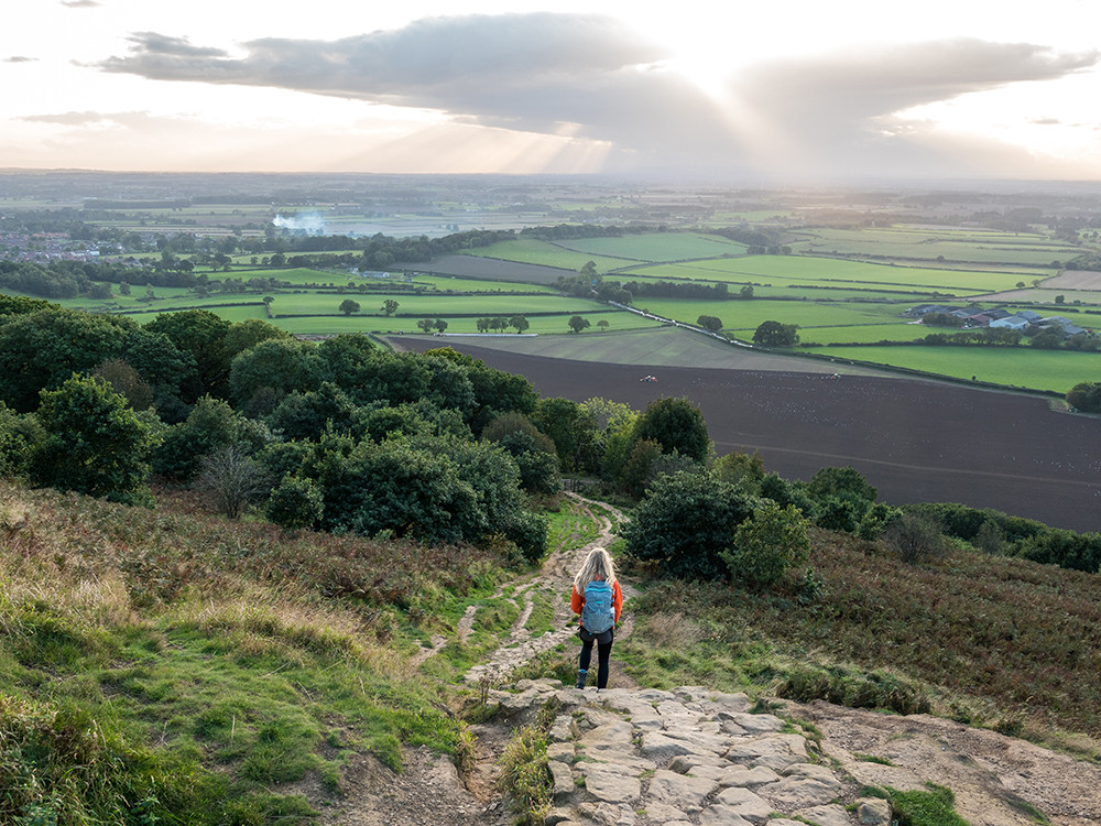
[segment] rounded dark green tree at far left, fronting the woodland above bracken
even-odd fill
[[[41,398],[36,416],[45,437],[30,457],[32,481],[115,502],[152,501],[145,489],[152,432],[121,395],[74,373]]]

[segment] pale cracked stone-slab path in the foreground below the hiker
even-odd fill
[[[578,691],[556,680],[515,688],[491,692],[506,714],[559,704],[547,749],[554,808],[546,826],[891,823],[885,801],[854,798],[799,729],[751,714],[744,694]]]

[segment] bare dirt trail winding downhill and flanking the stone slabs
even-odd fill
[[[550,554],[538,574],[513,585],[520,616],[501,645],[470,669],[467,682],[475,686],[506,685],[509,675],[537,654],[559,643],[567,648],[575,638],[576,617],[569,608],[570,580],[592,547],[607,546],[614,529],[612,519],[622,513],[603,503],[567,493],[574,507],[599,522],[595,540]],[[635,589],[621,579],[629,600]],[[495,596],[503,596],[500,590]],[[553,628],[533,637],[524,627],[537,597],[554,606]],[[476,621],[472,607],[456,629],[465,639]],[[618,638],[631,633],[629,610]],[[418,660],[430,656],[445,642],[433,640]],[[614,665],[611,685],[639,686]],[[972,729],[926,715],[895,717],[833,706],[828,703],[784,703],[793,718],[814,724],[821,732],[820,748],[847,779],[854,792],[865,784],[896,789],[924,789],[926,782],[952,790],[956,808],[971,826],[1029,826],[1042,812],[1053,826],[1101,824],[1101,767],[993,731]],[[428,748],[406,752],[406,770],[395,775],[368,756],[349,772],[342,802],[326,812],[324,823],[374,826],[506,826],[512,817],[495,789],[497,761],[512,735],[508,724],[471,726],[476,761],[464,778],[446,756]],[[872,762],[869,757],[886,762]],[[890,763],[890,764],[886,764]],[[853,820],[855,823],[855,820]]]

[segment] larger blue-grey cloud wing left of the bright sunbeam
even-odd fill
[[[645,150],[715,143],[722,129],[699,89],[663,69],[664,47],[601,15],[429,18],[331,42],[251,41],[243,57],[150,32],[130,40],[128,56],[100,68],[432,109],[468,123]]]

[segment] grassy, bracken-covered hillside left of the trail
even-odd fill
[[[0,548],[2,823],[309,822],[357,754],[461,751],[411,655],[506,562],[8,482]]]

